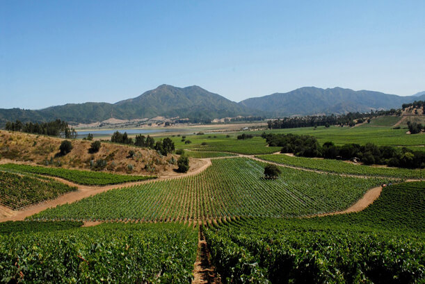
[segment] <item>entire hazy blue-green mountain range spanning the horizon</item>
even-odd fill
[[[42,110],[0,109],[0,126],[6,121],[45,122],[63,119],[72,123],[102,122],[115,119],[141,119],[157,116],[181,117],[207,121],[241,116],[283,117],[291,115],[343,114],[400,108],[403,103],[425,100],[425,92],[400,97],[367,90],[353,91],[341,87],[321,89],[301,87],[287,93],[269,94],[230,101],[202,87],[160,85],[140,96],[117,103],[67,103]]]

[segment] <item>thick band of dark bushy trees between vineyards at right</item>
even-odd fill
[[[337,146],[333,142],[322,145],[316,137],[296,134],[263,133],[270,147],[282,147],[281,153],[294,153],[295,156],[320,157],[326,159],[351,160],[360,159],[365,165],[388,165],[390,167],[422,168],[425,153],[412,151],[406,147],[377,146],[373,143],[365,145],[344,144]]]

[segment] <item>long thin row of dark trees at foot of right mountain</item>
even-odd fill
[[[401,110],[379,110],[366,113],[348,112],[346,115],[307,115],[305,117],[283,117],[282,119],[269,120],[267,126],[269,129],[298,128],[339,125],[354,126],[356,123],[370,122],[372,117],[379,115],[400,115]],[[356,122],[355,122],[356,120]]]

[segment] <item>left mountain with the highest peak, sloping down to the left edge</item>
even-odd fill
[[[118,103],[67,103],[42,110],[0,109],[0,126],[6,121],[45,122],[56,118],[74,123],[102,122],[115,119],[152,118],[157,116],[208,120],[237,115],[261,115],[262,112],[241,106],[202,87],[160,85],[134,99]]]

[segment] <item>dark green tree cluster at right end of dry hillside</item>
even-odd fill
[[[173,153],[175,150],[173,140],[168,137],[155,142],[154,138],[150,137],[150,135],[145,137],[145,135],[139,134],[136,135],[135,141],[133,142],[133,138],[129,137],[127,132],[120,133],[119,131],[115,131],[111,137],[111,142],[155,149],[163,156],[167,156],[168,153]]]

